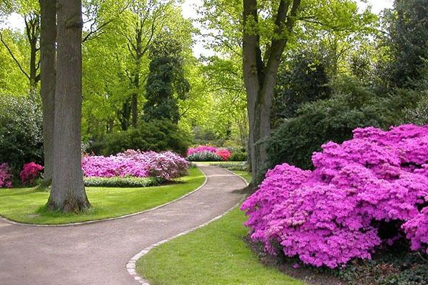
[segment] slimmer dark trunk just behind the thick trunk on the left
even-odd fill
[[[41,12],[40,80],[43,109],[44,185],[52,182],[56,84],[56,0],[39,0]]]

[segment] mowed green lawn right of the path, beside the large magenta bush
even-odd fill
[[[248,180],[248,172],[237,172]],[[245,215],[234,209],[207,227],[151,250],[137,262],[151,285],[304,285],[264,266],[243,241]]]

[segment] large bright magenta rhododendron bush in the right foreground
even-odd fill
[[[241,207],[251,238],[275,254],[335,268],[370,259],[401,235],[428,245],[428,125],[359,128],[312,156],[314,171],[277,165]],[[381,233],[380,225],[394,231]],[[394,228],[395,227],[395,228]]]

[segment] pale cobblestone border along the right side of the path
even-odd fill
[[[221,167],[220,167],[221,168]],[[223,170],[227,170],[225,168],[222,168]],[[247,180],[245,180],[242,176],[237,175],[236,173],[233,173],[230,170],[227,170],[228,172],[230,172],[231,174],[240,177],[245,184],[248,186],[248,182]],[[179,234],[175,234],[175,236],[170,237],[169,239],[163,239],[161,240],[161,242],[156,242],[156,244],[152,244],[149,247],[144,248],[143,250],[141,250],[141,252],[138,252],[138,254],[134,255],[133,258],[131,258],[130,261],[128,261],[128,263],[126,264],[126,270],[128,271],[128,274],[130,274],[131,276],[133,276],[133,278],[138,281],[138,284],[141,285],[150,285],[150,283],[144,279],[142,276],[139,276],[137,274],[136,271],[136,262],[138,261],[138,259],[141,259],[141,257],[145,256],[146,254],[148,254],[148,252],[150,252],[152,249],[154,249],[155,247],[159,247],[161,244],[165,244],[165,242],[170,242],[171,240],[177,238],[177,237],[181,237],[185,234],[189,234],[190,232],[195,232],[196,229],[200,229],[203,227],[208,226],[208,224],[211,224],[212,222],[217,221],[218,219],[223,218],[226,214],[229,214],[230,212],[232,212],[236,207],[238,207],[245,199],[246,195],[244,195],[241,199],[240,202],[238,202],[238,204],[235,204],[235,206],[231,207],[230,209],[228,209],[226,212],[224,212],[223,214],[220,214],[219,216],[210,219],[208,222],[205,222],[204,224],[200,224],[198,227],[194,227],[192,229],[188,229],[185,232],[180,232]]]

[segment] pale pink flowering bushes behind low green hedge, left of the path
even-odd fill
[[[103,156],[83,156],[86,177],[158,177],[172,180],[186,175],[189,162],[173,152],[126,152]]]

